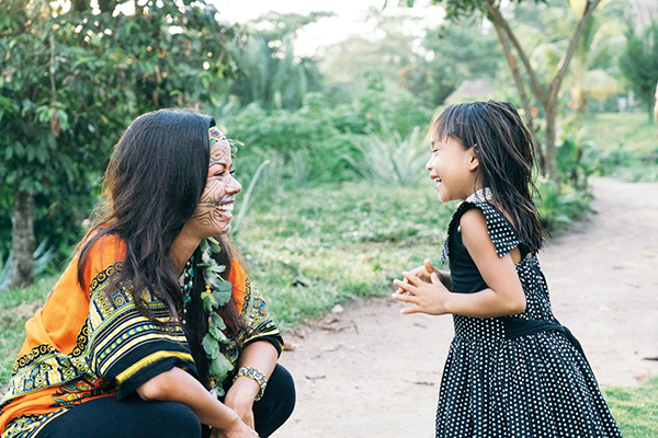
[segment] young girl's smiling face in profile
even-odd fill
[[[432,136],[432,155],[426,164],[430,178],[436,183],[442,201],[466,199],[473,194],[478,161],[473,148],[465,149],[457,140],[446,137],[442,141]]]

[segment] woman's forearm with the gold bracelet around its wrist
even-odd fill
[[[268,341],[256,341],[249,344],[238,359],[238,367],[256,368],[270,379],[276,366],[279,351]],[[253,400],[260,392],[258,382],[249,377],[240,376],[226,393],[225,403],[242,418],[250,427],[253,427]]]

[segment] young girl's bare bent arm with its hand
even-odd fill
[[[416,306],[404,309],[402,313],[453,313],[474,318],[522,313],[525,310],[525,293],[513,258],[513,255],[520,258],[519,250],[498,256],[487,231],[485,216],[479,209],[466,211],[460,223],[464,246],[489,288],[476,293],[452,293],[435,274],[431,283],[426,283],[419,276],[405,273],[406,281],[396,280],[395,284],[409,295],[394,295],[393,298]]]

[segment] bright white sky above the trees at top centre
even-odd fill
[[[314,55],[318,47],[336,44],[351,34],[373,36],[374,28],[365,23],[364,15],[371,7],[383,8],[384,2],[385,0],[213,0],[224,20],[237,23],[254,20],[272,10],[299,14],[333,12],[336,16],[320,19],[317,23],[307,25],[298,35],[295,51],[300,56]],[[429,1],[417,0],[417,3],[428,4]],[[400,8],[397,0],[389,0],[384,13],[421,16],[431,26],[439,25],[443,20],[443,10],[439,7]],[[418,25],[413,27],[409,32],[419,30]]]

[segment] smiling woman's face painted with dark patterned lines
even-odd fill
[[[206,186],[190,224],[204,238],[227,233],[232,219],[234,196],[241,189],[232,176],[230,145],[226,140],[216,142],[211,147]]]

